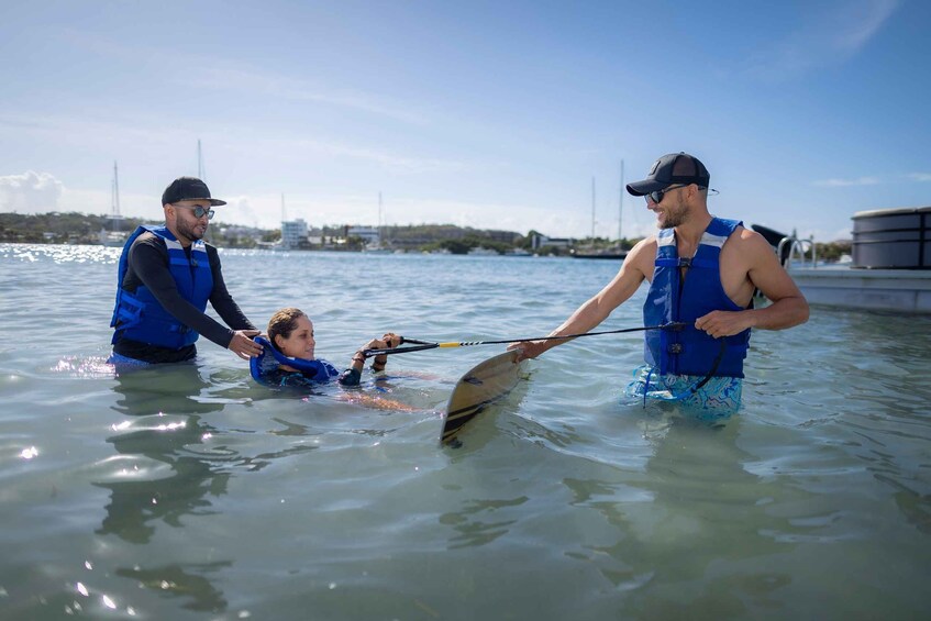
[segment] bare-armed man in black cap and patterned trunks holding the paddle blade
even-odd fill
[[[769,244],[736,220],[708,212],[710,175],[697,157],[670,153],[646,179],[630,184],[646,198],[660,232],[641,241],[620,271],[550,335],[592,330],[647,280],[644,357],[631,392],[681,400],[689,407],[734,411],[752,328],[783,330],[808,320],[808,302]],[[772,303],[753,308],[754,289]],[[561,340],[512,344],[535,358]]]

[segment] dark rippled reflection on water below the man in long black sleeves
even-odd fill
[[[120,399],[113,409],[132,419],[118,425],[118,433],[107,441],[135,466],[132,476],[95,483],[110,490],[107,515],[97,534],[143,546],[156,535],[158,522],[184,528],[186,515],[217,512],[211,499],[226,494],[229,466],[242,459],[234,451],[197,448],[218,432],[201,421],[201,414],[223,408],[222,402],[200,398],[210,386],[195,365],[144,368],[118,377],[114,390]],[[232,559],[155,567],[134,563],[115,573],[155,591],[189,599],[185,608],[221,612],[226,600],[208,575],[232,564]]]

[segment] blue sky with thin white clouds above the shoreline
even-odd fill
[[[3,0],[0,210],[618,234],[691,153],[712,213],[849,236],[931,204],[931,3]],[[624,236],[654,219],[627,196]]]

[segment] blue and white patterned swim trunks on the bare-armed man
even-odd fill
[[[644,365],[633,372],[627,395],[644,399],[678,401],[688,410],[727,415],[740,409],[743,380],[739,377],[712,377],[701,388],[694,387],[705,379],[697,375],[663,375]]]

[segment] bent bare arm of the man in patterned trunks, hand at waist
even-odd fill
[[[734,246],[728,248],[728,245]],[[711,336],[730,336],[747,328],[760,330],[785,330],[808,321],[808,301],[801,295],[791,277],[786,273],[776,253],[758,233],[741,230],[724,245],[729,254],[722,251],[722,275],[731,265],[739,265],[739,271],[753,287],[766,296],[772,303],[766,308],[739,312],[713,311],[695,322],[695,326]],[[728,262],[730,265],[725,266]],[[733,271],[733,270],[732,270]],[[725,285],[727,287],[727,285]]]

